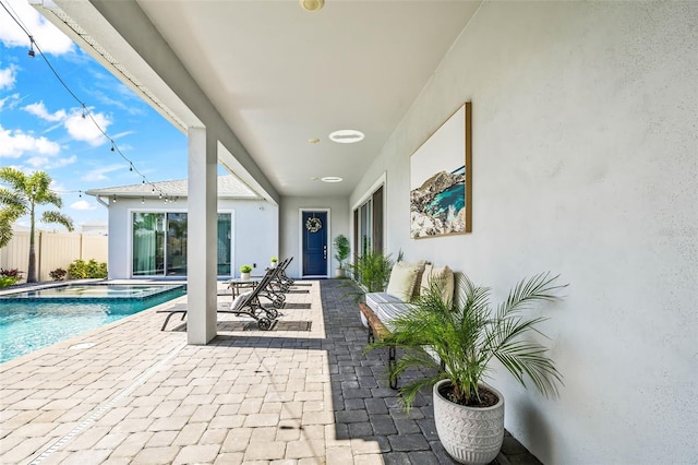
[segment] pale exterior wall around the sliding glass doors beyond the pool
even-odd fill
[[[133,212],[186,212],[186,200],[166,204],[161,200],[118,199],[109,204],[109,278],[131,276],[133,258],[131,217]],[[264,273],[269,259],[278,255],[278,207],[262,200],[219,200],[218,212],[232,212],[233,272],[243,263],[254,264],[253,274]]]

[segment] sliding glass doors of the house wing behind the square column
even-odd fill
[[[186,276],[186,213],[133,213],[133,276]],[[218,214],[218,275],[230,275],[232,214]]]

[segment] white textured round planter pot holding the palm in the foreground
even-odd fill
[[[450,381],[434,384],[434,421],[444,449],[458,463],[484,465],[492,462],[504,441],[504,396],[491,386],[500,402],[486,408],[466,407],[447,401],[438,389]]]

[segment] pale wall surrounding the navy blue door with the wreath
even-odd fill
[[[280,234],[280,259],[293,257],[293,261],[289,264],[287,274],[293,277],[301,276],[301,250],[300,250],[300,210],[312,208],[329,208],[330,229],[327,237],[328,257],[330,257],[329,276],[334,274],[334,270],[339,265],[335,260],[335,250],[333,241],[339,234],[350,237],[349,230],[349,203],[346,196],[325,196],[325,198],[308,198],[308,196],[289,196],[281,199],[279,220],[281,228]]]

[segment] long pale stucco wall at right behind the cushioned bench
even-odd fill
[[[547,464],[695,463],[698,3],[485,2],[356,189],[387,171],[386,251],[494,287],[561,273],[555,400],[497,370]],[[409,159],[473,110],[472,234],[409,238]]]

